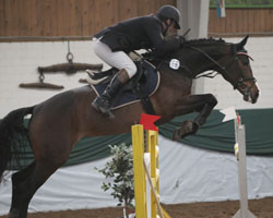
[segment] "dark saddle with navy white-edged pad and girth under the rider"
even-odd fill
[[[136,74],[119,90],[115,99],[112,99],[111,110],[141,101],[145,111],[150,114],[155,114],[150,96],[153,95],[159,84],[159,73],[156,68],[145,61],[134,61],[138,72]],[[111,82],[111,78],[119,70],[111,68],[107,71],[99,73],[88,73],[87,78],[91,87],[94,89],[97,96],[100,96],[107,85]]]

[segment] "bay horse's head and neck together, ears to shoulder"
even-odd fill
[[[260,90],[249,62],[252,58],[245,49],[247,40],[248,36],[238,44],[213,38],[189,40],[177,52],[170,53],[166,62],[171,65],[175,60],[174,68],[170,68],[192,78],[214,77],[216,74],[212,76],[212,73],[202,73],[216,71],[244,95],[244,100],[254,104]]]

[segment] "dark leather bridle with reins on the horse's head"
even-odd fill
[[[239,80],[236,82],[230,73],[228,72],[228,68],[234,63],[236,62],[236,64],[238,65],[238,57],[239,56],[246,56],[248,59],[252,60],[253,59],[247,53],[246,50],[239,50],[237,52],[235,52],[235,55],[233,56],[232,60],[226,64],[226,65],[222,65],[218,61],[216,61],[214,58],[212,58],[210,55],[207,55],[206,52],[195,48],[195,47],[188,47],[192,50],[195,50],[195,51],[199,51],[200,53],[202,53],[203,56],[205,56],[211,62],[213,62],[215,65],[217,65],[219,69],[221,69],[221,72],[223,74],[224,77],[226,77],[227,80],[230,81],[230,83],[233,84],[234,86],[234,89],[238,89],[240,90],[241,93],[244,93],[244,96],[249,96],[250,95],[250,89],[253,87],[253,85],[256,84],[256,78],[254,77],[239,77]],[[213,71],[213,72],[209,72],[206,74],[202,74],[202,75],[198,75],[198,76],[194,76],[194,78],[199,78],[199,77],[215,77],[219,72],[216,72],[216,71]],[[248,87],[245,82],[248,82],[248,81],[252,81],[252,84],[250,87]],[[245,88],[242,87],[245,86]]]

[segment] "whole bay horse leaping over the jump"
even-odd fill
[[[152,60],[161,74],[157,90],[150,97],[154,111],[161,119],[156,124],[168,122],[177,116],[198,111],[193,121],[186,121],[175,131],[178,140],[194,134],[215,105],[212,94],[191,95],[192,80],[213,70],[219,73],[245,100],[254,104],[259,88],[245,50],[248,37],[238,44],[222,39],[189,40],[182,48],[161,61]],[[171,69],[169,62],[181,63]],[[103,136],[127,133],[131,125],[140,122],[145,112],[141,102],[133,102],[114,110],[115,119],[108,119],[91,107],[95,93],[90,86],[58,94],[33,107],[11,111],[0,123],[0,177],[11,161],[12,154],[22,141],[29,141],[35,159],[12,174],[12,199],[9,218],[26,218],[28,204],[35,192],[69,158],[79,140],[85,136]],[[23,125],[26,114],[32,114],[27,128]]]

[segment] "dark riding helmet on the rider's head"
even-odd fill
[[[173,5],[163,5],[156,14],[161,20],[167,20],[167,19],[171,19],[173,21],[175,21],[175,28],[180,29],[180,25],[179,25],[179,20],[180,20],[180,11],[173,7]]]

